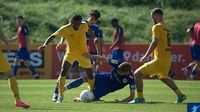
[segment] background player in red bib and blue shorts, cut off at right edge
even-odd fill
[[[189,75],[189,80],[193,80],[196,72],[200,68],[200,22],[197,22],[194,26],[187,30],[190,38],[190,49],[192,54],[193,62],[191,62],[188,66],[182,68],[182,72],[184,75],[187,75],[189,71],[191,71]]]

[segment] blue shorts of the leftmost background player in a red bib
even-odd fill
[[[22,60],[31,60],[29,52],[27,51],[26,48],[20,48],[16,53],[16,58]]]

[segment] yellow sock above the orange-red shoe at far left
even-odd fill
[[[9,83],[10,89],[13,92],[15,100],[20,100],[20,97],[19,97],[19,88],[18,88],[17,81],[16,81],[15,77],[9,78],[8,79],[8,83]]]

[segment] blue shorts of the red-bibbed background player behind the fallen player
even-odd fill
[[[112,59],[114,60],[124,60],[123,50],[112,50]]]

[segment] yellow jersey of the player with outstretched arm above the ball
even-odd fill
[[[73,53],[82,55],[87,50],[87,43],[86,43],[86,32],[88,31],[89,27],[86,23],[81,23],[78,30],[74,30],[74,28],[67,24],[62,26],[58,31],[56,31],[53,35],[56,37],[63,37],[67,43],[67,51],[66,54]]]

